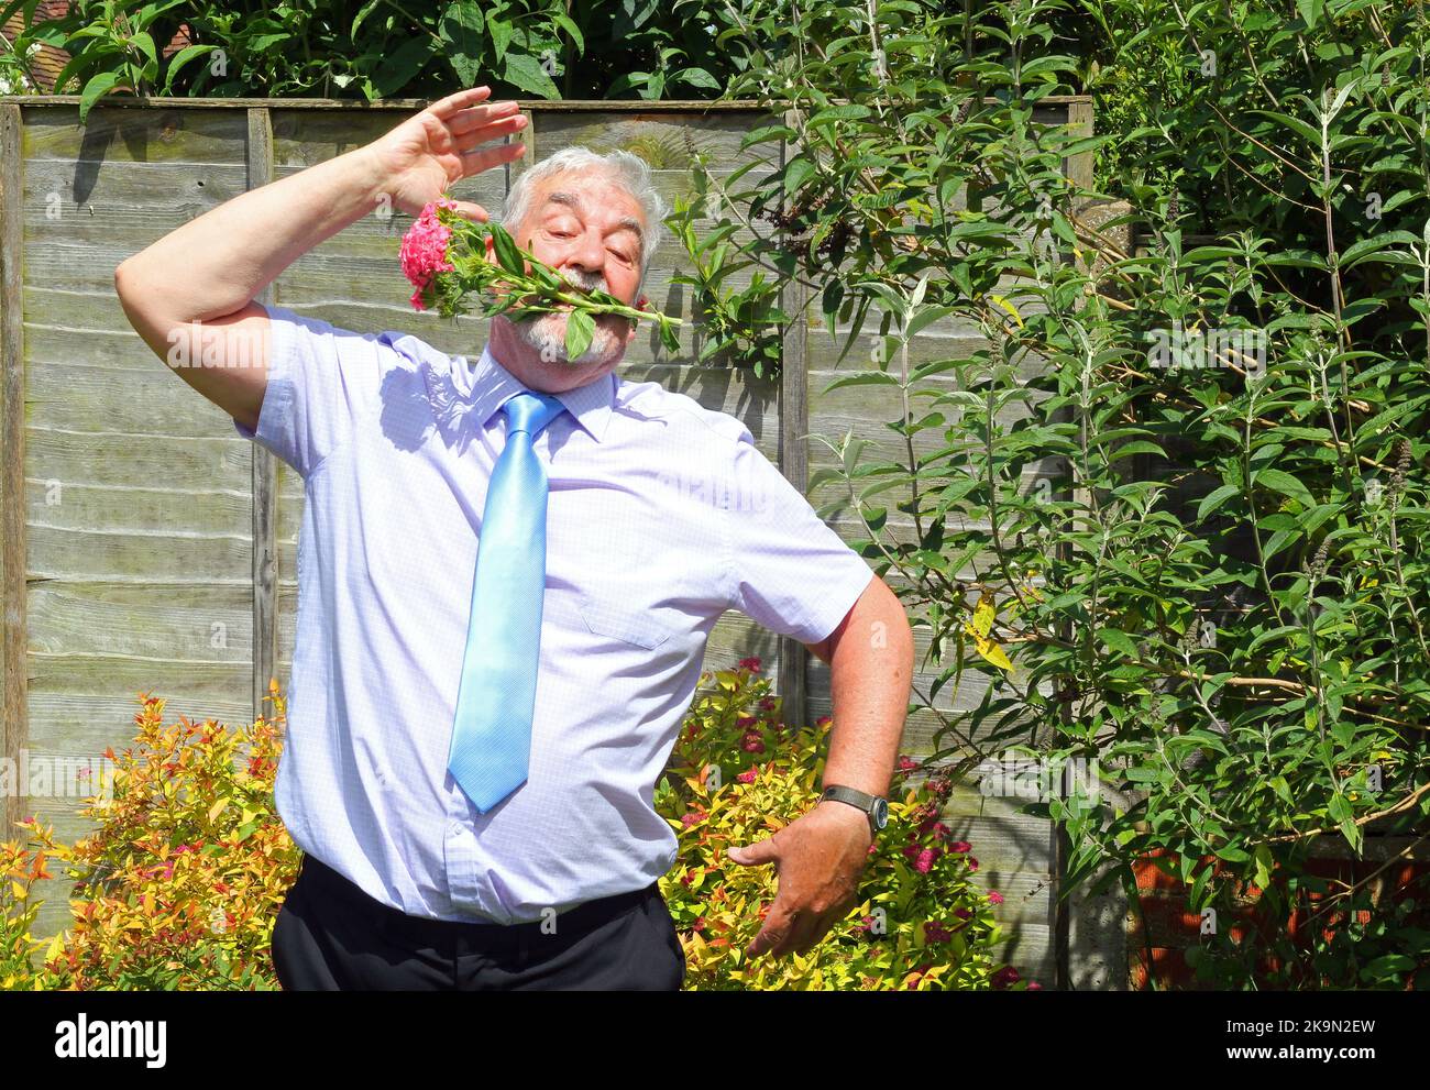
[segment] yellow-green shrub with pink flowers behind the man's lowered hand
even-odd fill
[[[994,961],[992,904],[971,874],[967,843],[938,821],[951,790],[901,760],[889,823],[871,845],[862,904],[808,954],[749,960],[776,893],[772,865],[742,867],[728,847],[764,840],[818,802],[829,720],[798,728],[779,720],[781,699],[758,677],[759,659],[705,674],[708,695],[691,707],[656,788],[658,811],[679,837],[679,857],[661,890],[686,954],[686,987],[749,990],[951,990],[1028,987]],[[716,771],[718,770],[718,771]],[[1037,987],[1034,984],[1032,987]]]

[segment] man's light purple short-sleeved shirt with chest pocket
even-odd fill
[[[654,805],[726,609],[827,638],[874,574],[745,425],[656,382],[556,395],[528,781],[479,814],[446,770],[502,402],[523,386],[398,332],[286,308],[257,429],[305,482],[279,815],[409,915],[502,924],[639,890],[675,861]]]

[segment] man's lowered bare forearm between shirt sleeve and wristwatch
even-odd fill
[[[829,671],[834,732],[824,784],[887,795],[908,714],[914,637],[904,607],[881,579],[849,612]]]

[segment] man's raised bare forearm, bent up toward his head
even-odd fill
[[[375,157],[358,147],[189,220],[124,260],[120,276],[152,313],[207,322],[372,212],[382,192]]]

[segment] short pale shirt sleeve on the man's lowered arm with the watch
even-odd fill
[[[725,504],[729,608],[772,632],[819,644],[874,579],[874,569],[755,446],[735,443]]]

